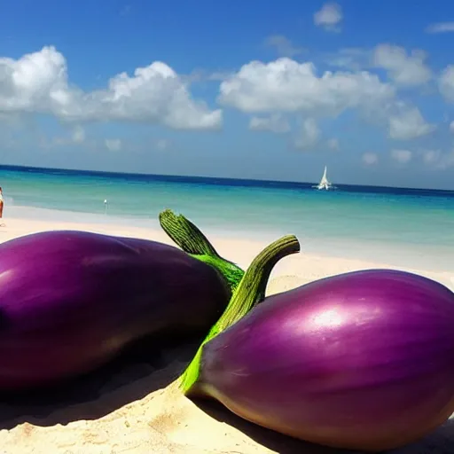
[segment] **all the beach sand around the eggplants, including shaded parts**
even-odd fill
[[[34,231],[79,229],[157,239],[171,243],[161,231],[114,224],[48,223],[4,219],[0,241]],[[203,226],[200,226],[203,227]],[[247,267],[264,244],[223,239],[206,231],[218,251]],[[288,232],[283,232],[288,233]],[[348,270],[387,267],[302,253],[286,257],[271,275],[268,294]],[[412,270],[452,288],[452,273]],[[178,392],[175,379],[196,345],[168,348],[149,356],[113,364],[74,385],[70,397],[42,396],[43,402],[0,403],[0,454],[333,454],[345,452],[295,441],[239,419],[222,406],[193,403]],[[45,402],[45,403],[44,403]],[[450,419],[451,421],[451,419]],[[452,453],[454,427],[448,423],[398,454]]]

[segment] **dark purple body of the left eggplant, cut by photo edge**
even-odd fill
[[[149,335],[205,333],[231,292],[176,247],[88,231],[0,245],[0,391],[49,385],[106,364]]]

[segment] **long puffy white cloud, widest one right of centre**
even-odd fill
[[[247,113],[298,112],[337,115],[348,108],[386,104],[395,90],[375,74],[330,72],[317,76],[311,62],[251,61],[223,81],[219,102]]]

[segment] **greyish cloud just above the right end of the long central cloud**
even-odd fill
[[[380,44],[373,53],[373,65],[387,70],[388,76],[398,85],[417,86],[428,82],[432,72],[427,67],[424,51],[407,53],[403,47]]]

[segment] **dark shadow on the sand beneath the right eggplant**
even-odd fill
[[[236,427],[240,432],[255,442],[278,454],[358,454],[359,451],[335,450],[309,442],[301,442],[286,435],[256,426],[228,411],[220,403],[209,400],[194,401],[200,410],[212,418],[229,426]],[[381,454],[454,454],[454,419],[448,420],[433,434],[420,442],[409,444],[397,450],[382,451]],[[364,453],[365,454],[365,453]],[[370,454],[370,453],[367,453]]]

